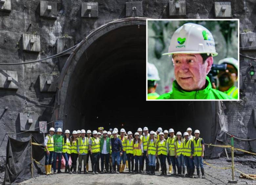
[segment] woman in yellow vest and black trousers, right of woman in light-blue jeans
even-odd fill
[[[164,139],[164,134],[162,132],[159,133],[159,141],[158,141],[158,148],[157,148],[157,155],[159,156],[161,171],[160,175],[167,175],[166,171],[166,157],[169,152],[169,148],[167,146],[167,140]]]

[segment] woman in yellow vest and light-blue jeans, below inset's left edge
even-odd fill
[[[156,157],[157,157],[157,142],[158,140],[155,139],[155,132],[150,131],[150,138],[148,139],[147,154],[146,154],[146,156],[149,159],[150,175],[156,175],[155,169],[156,169]]]

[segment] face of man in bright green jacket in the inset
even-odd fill
[[[173,54],[172,60],[176,81],[182,89],[196,91],[204,88],[212,57],[207,58],[204,64],[200,54]]]

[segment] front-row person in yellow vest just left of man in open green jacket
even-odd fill
[[[97,167],[99,164],[99,157],[100,157],[100,140],[97,137],[98,132],[96,130],[93,131],[93,138],[89,140],[89,150],[92,155],[92,169],[93,174],[98,174]]]

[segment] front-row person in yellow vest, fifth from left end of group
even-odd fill
[[[81,137],[77,141],[77,152],[78,152],[78,173],[82,171],[82,161],[84,161],[84,174],[86,173],[86,161],[89,149],[89,139],[85,137],[85,130],[81,130]]]

